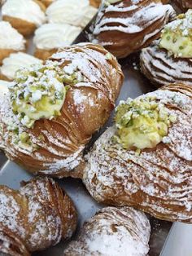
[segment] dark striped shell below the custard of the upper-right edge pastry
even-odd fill
[[[192,60],[168,55],[167,50],[159,48],[159,41],[142,49],[140,63],[142,73],[155,86],[174,82],[192,86]]]

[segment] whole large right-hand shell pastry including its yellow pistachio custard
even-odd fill
[[[116,108],[84,170],[91,196],[192,223],[192,88],[164,86]]]

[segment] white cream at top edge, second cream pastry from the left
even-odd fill
[[[67,23],[85,28],[97,11],[97,8],[90,6],[89,0],[58,0],[46,9],[46,15],[51,23]]]

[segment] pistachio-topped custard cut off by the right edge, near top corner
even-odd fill
[[[159,46],[175,57],[192,57],[192,10],[165,25]]]

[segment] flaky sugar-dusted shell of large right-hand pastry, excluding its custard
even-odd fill
[[[168,135],[138,154],[115,143],[116,128],[109,128],[86,157],[85,186],[96,201],[192,223],[192,89],[170,85],[142,97],[148,96],[177,116]]]

